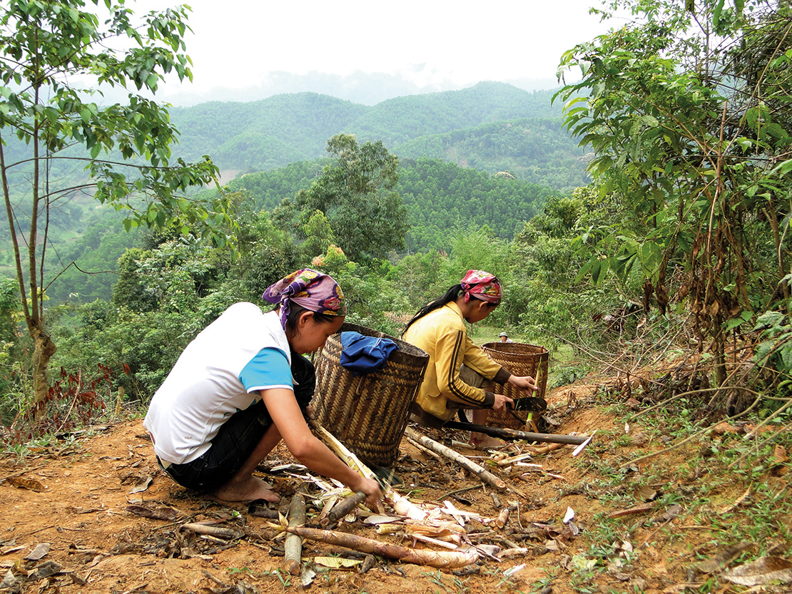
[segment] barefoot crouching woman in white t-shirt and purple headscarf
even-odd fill
[[[185,348],[162,383],[143,425],[158,463],[180,485],[225,501],[278,501],[253,476],[280,442],[310,470],[382,497],[322,444],[303,417],[314,394],[314,366],[303,357],[344,323],[341,287],[305,268],[268,287],[277,307],[264,313],[235,303]]]

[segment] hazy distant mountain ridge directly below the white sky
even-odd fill
[[[562,129],[561,107],[550,103],[553,93],[480,82],[469,89],[396,97],[373,106],[318,93],[276,95],[249,103],[213,101],[169,110],[181,131],[173,154],[187,161],[210,154],[221,170],[267,171],[325,156],[327,140],[343,132],[356,135],[360,142],[382,140],[400,157],[444,158],[489,173],[507,169],[519,177],[527,175],[524,178],[531,183],[543,183],[543,175],[533,173],[551,158],[555,166],[565,162],[565,167],[574,169],[569,179],[554,184],[565,188],[585,183],[585,164],[579,161],[584,153]],[[541,122],[528,125],[531,118]],[[518,138],[505,125],[495,135],[514,138],[504,152],[498,152],[504,143],[493,143],[493,130],[481,127],[509,120],[520,120],[522,129],[539,128],[545,138],[554,137],[550,151],[554,155],[544,147],[527,158],[531,151],[514,150],[526,143],[526,137]],[[483,138],[477,139],[478,135]]]

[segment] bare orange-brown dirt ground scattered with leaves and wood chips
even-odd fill
[[[275,538],[272,520],[251,516],[247,505],[218,503],[176,485],[158,469],[142,421],[130,419],[63,447],[0,459],[0,563],[6,576],[0,588],[7,588],[0,592],[681,592],[695,554],[709,538],[706,527],[680,513],[679,506],[647,503],[656,497],[634,489],[631,477],[651,468],[658,477],[649,488],[655,495],[683,492],[697,480],[695,473],[680,473],[689,452],[682,448],[619,470],[636,452],[666,444],[644,430],[640,419],[625,427],[621,413],[629,411],[597,402],[596,386],[565,386],[548,397],[549,415],[560,423],[555,432],[598,429],[600,438],[577,457],[573,446],[564,446],[527,461],[540,466],[497,466],[495,458],[475,458],[483,453],[451,442],[466,440],[463,432],[421,429],[484,464],[516,492],[497,492],[455,463],[433,459],[402,441],[396,466],[404,482],[400,492],[430,505],[451,501],[482,516],[465,529],[473,543],[512,549],[513,556],[499,557],[500,562],[485,557],[452,571],[377,558],[365,573],[360,565],[317,566],[312,583],[303,586],[299,575],[282,569],[283,541]],[[514,444],[505,454],[527,447]],[[272,467],[292,461],[281,447],[265,462]],[[623,482],[614,486],[606,480],[609,472],[621,472]],[[281,494],[280,505],[303,483],[286,474],[263,476]],[[737,500],[741,489],[726,489],[722,500]],[[594,531],[597,514],[630,508],[624,499],[608,499],[616,491],[630,493],[639,511],[614,520],[610,533]],[[494,519],[514,502],[507,523],[498,527]],[[565,523],[569,510],[574,517],[567,516]],[[147,516],[158,514],[162,519]],[[181,527],[201,520],[219,520],[217,525],[238,530],[242,538],[204,538]],[[360,520],[340,529],[399,542]],[[584,580],[580,569],[591,559],[592,546],[606,551],[607,568]],[[304,559],[339,553],[337,547],[311,541],[303,545]]]

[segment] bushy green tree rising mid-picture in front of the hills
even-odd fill
[[[348,134],[329,139],[327,152],[333,157],[332,164],[310,188],[295,196],[300,227],[321,211],[337,245],[354,261],[402,249],[408,225],[402,197],[394,191],[398,182],[396,155],[390,154],[382,141],[359,145]]]

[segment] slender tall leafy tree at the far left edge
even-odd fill
[[[187,10],[136,21],[123,0],[9,0],[0,15],[0,178],[33,342],[38,417],[55,352],[44,311],[48,223],[61,204],[87,194],[125,211],[127,229],[176,225],[217,244],[227,240],[216,230],[227,219],[223,197],[201,204],[183,195],[211,182],[215,166],[209,158],[174,161],[177,130],[166,109],[143,94],[154,93],[171,71],[192,78]],[[101,89],[119,86],[128,100],[102,105]]]

